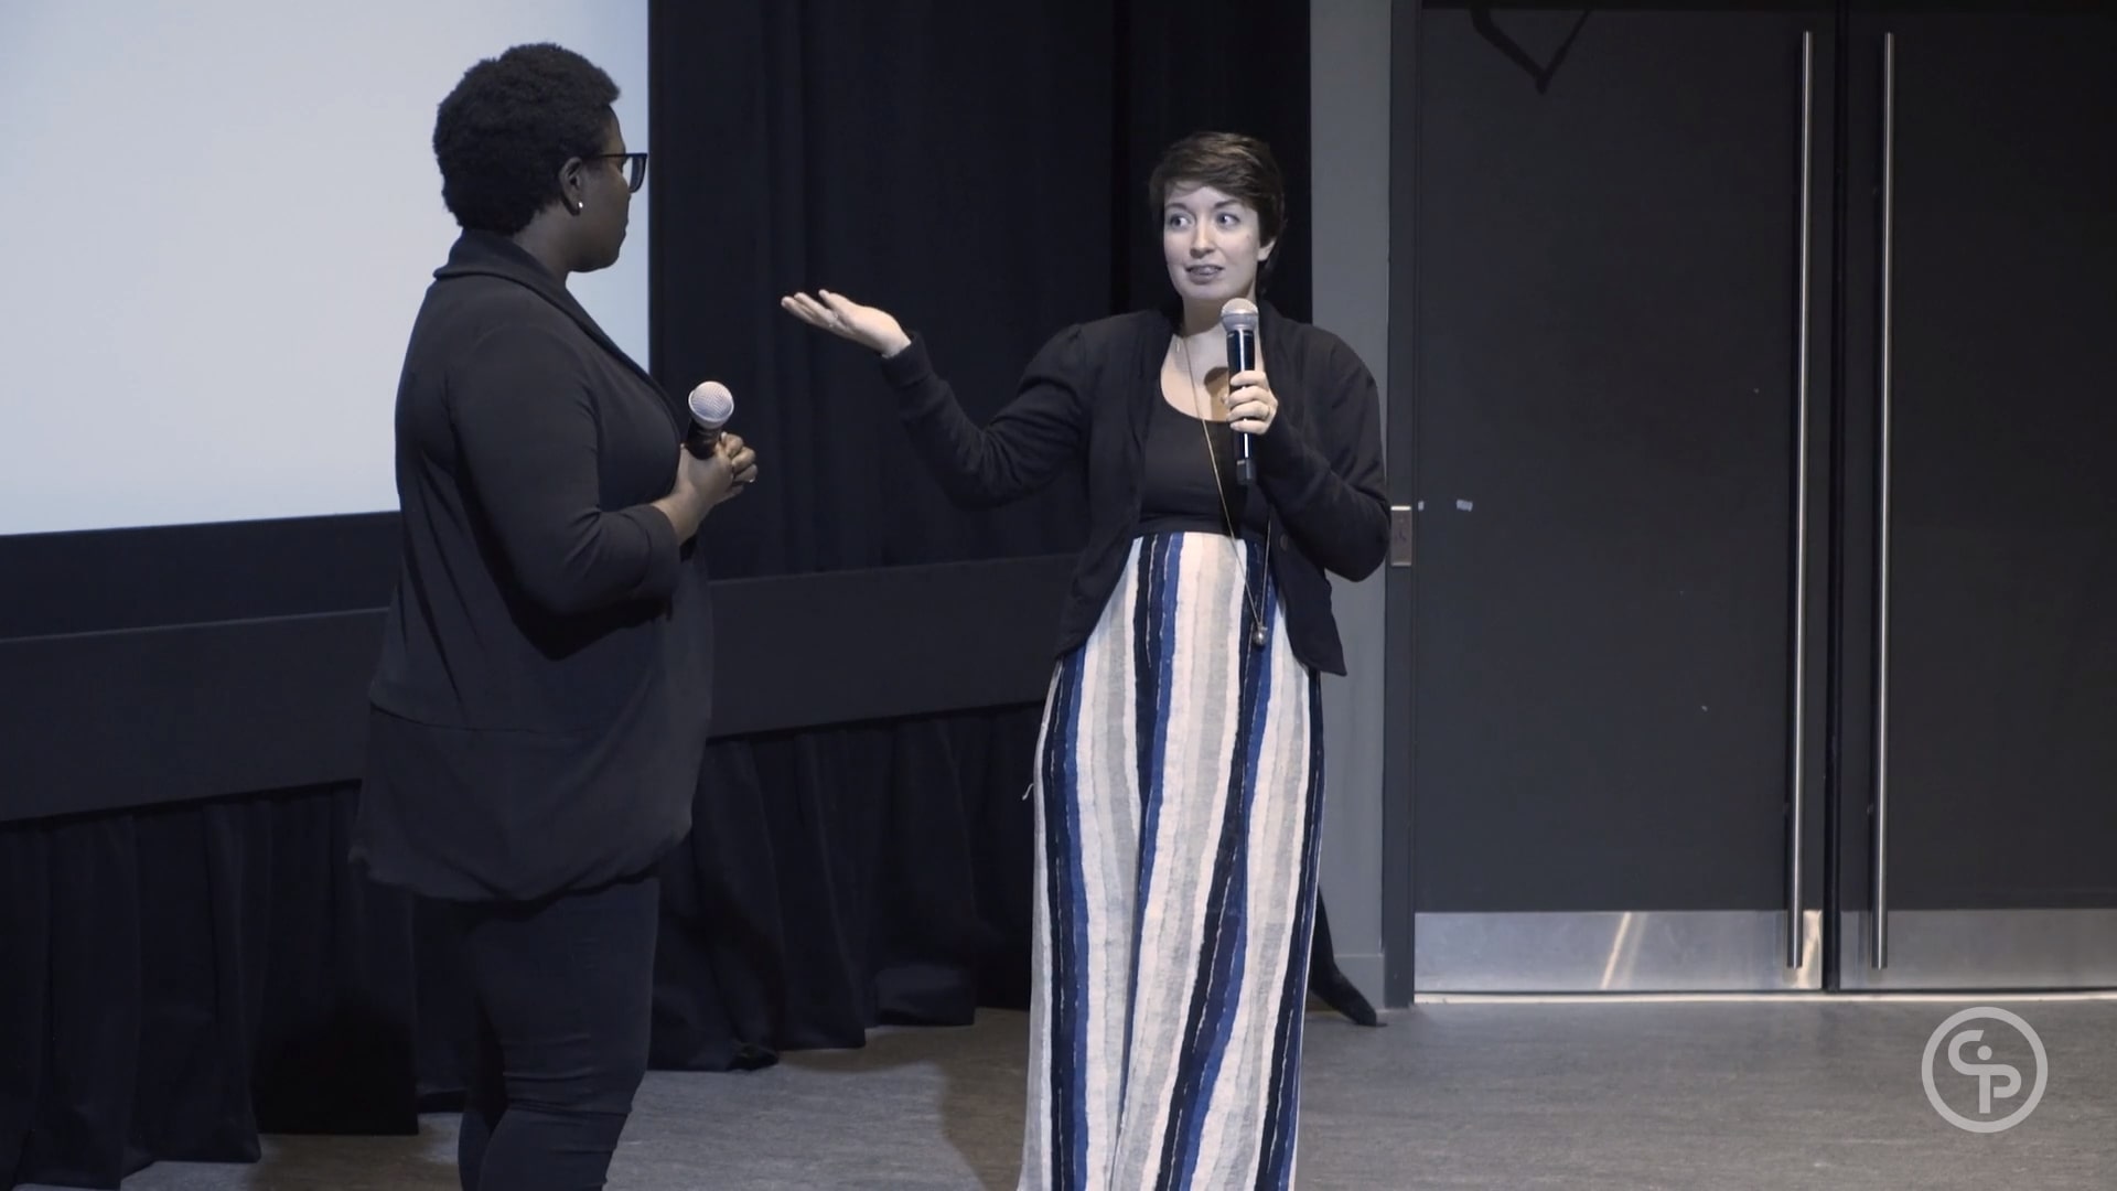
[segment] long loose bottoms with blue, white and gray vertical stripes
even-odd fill
[[[1052,676],[1023,1189],[1293,1183],[1323,716],[1260,555],[1139,538]]]

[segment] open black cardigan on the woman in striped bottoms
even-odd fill
[[[1325,570],[1359,581],[1389,549],[1382,409],[1374,375],[1329,331],[1260,303],[1264,371],[1279,417],[1253,443],[1257,487],[1274,517],[1272,576],[1287,606],[1293,655],[1344,674]],[[925,341],[883,360],[912,445],[951,500],[993,506],[1050,483],[1088,458],[1088,545],[1073,568],[1058,653],[1088,640],[1139,528],[1143,443],[1177,309],[1075,324],[1029,362],[1020,390],[976,426],[927,358]]]

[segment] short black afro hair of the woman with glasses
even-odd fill
[[[440,201],[464,229],[529,227],[559,197],[559,167],[603,150],[616,100],[610,74],[548,42],[472,66],[434,117]]]

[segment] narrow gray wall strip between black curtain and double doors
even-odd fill
[[[1310,8],[1315,320],[1359,352],[1389,420],[1389,0]],[[1382,572],[1332,576],[1346,678],[1323,682],[1323,901],[1338,966],[1382,1005]]]

